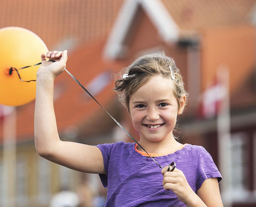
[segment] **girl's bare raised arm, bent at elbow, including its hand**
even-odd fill
[[[46,58],[56,62],[47,61]],[[95,146],[61,141],[53,107],[53,82],[64,71],[67,50],[41,55],[37,72],[35,104],[35,147],[38,154],[52,162],[85,173],[105,173],[101,151]]]

